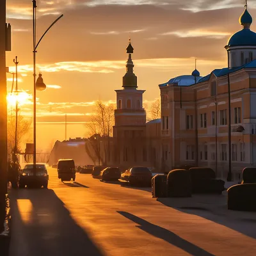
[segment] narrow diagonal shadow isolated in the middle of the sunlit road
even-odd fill
[[[204,249],[196,246],[195,244],[189,243],[189,241],[186,241],[185,239],[182,239],[181,237],[174,234],[173,232],[170,232],[170,230],[154,225],[129,212],[118,211],[118,213],[123,215],[125,218],[139,224],[140,226],[138,226],[138,228],[140,228],[141,230],[147,232],[148,234],[151,234],[152,236],[163,239],[164,241],[179,247],[180,249],[190,253],[191,255],[214,256],[211,253],[206,252]]]

